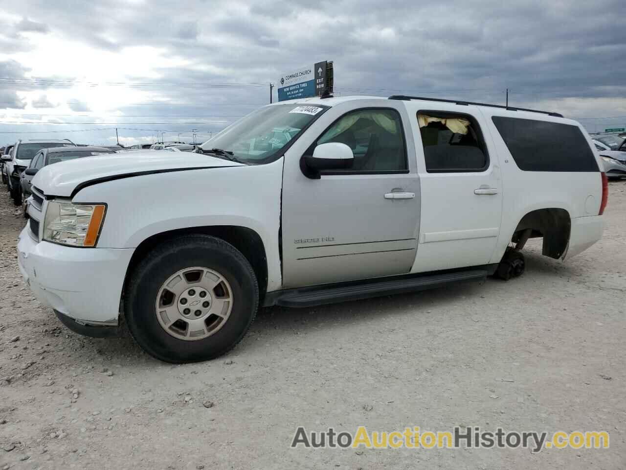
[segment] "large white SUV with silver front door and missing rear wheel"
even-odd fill
[[[260,108],[201,148],[36,174],[19,266],[63,323],[103,336],[123,313],[154,357],[206,360],[239,342],[259,305],[508,279],[528,238],[566,259],[602,236],[599,157],[557,113],[308,98]]]

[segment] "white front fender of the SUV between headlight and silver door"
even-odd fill
[[[279,159],[111,180],[86,187],[73,202],[107,205],[98,248],[136,248],[153,235],[189,227],[249,228],[265,246],[269,279],[280,284],[281,189]]]

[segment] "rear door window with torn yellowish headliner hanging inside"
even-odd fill
[[[427,172],[481,172],[489,166],[483,134],[470,115],[419,111],[418,125]]]

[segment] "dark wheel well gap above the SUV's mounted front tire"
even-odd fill
[[[247,227],[240,226],[223,225],[207,227],[188,227],[184,229],[158,233],[149,238],[146,238],[135,249],[135,252],[130,259],[130,263],[128,263],[124,286],[126,286],[128,276],[130,276],[130,273],[133,272],[135,266],[156,245],[182,235],[190,234],[211,235],[216,238],[221,238],[223,241],[227,241],[228,243],[232,244],[232,246],[237,248],[249,261],[252,269],[254,269],[254,274],[257,276],[257,282],[259,283],[259,305],[262,305],[262,301],[265,297],[265,291],[267,291],[267,258],[265,257],[265,246],[257,232]]]

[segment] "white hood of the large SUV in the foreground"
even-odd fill
[[[46,196],[70,197],[78,185],[91,180],[131,177],[177,169],[237,166],[245,165],[191,152],[167,152],[165,150],[123,152],[47,165],[34,175],[33,185],[41,189]]]

